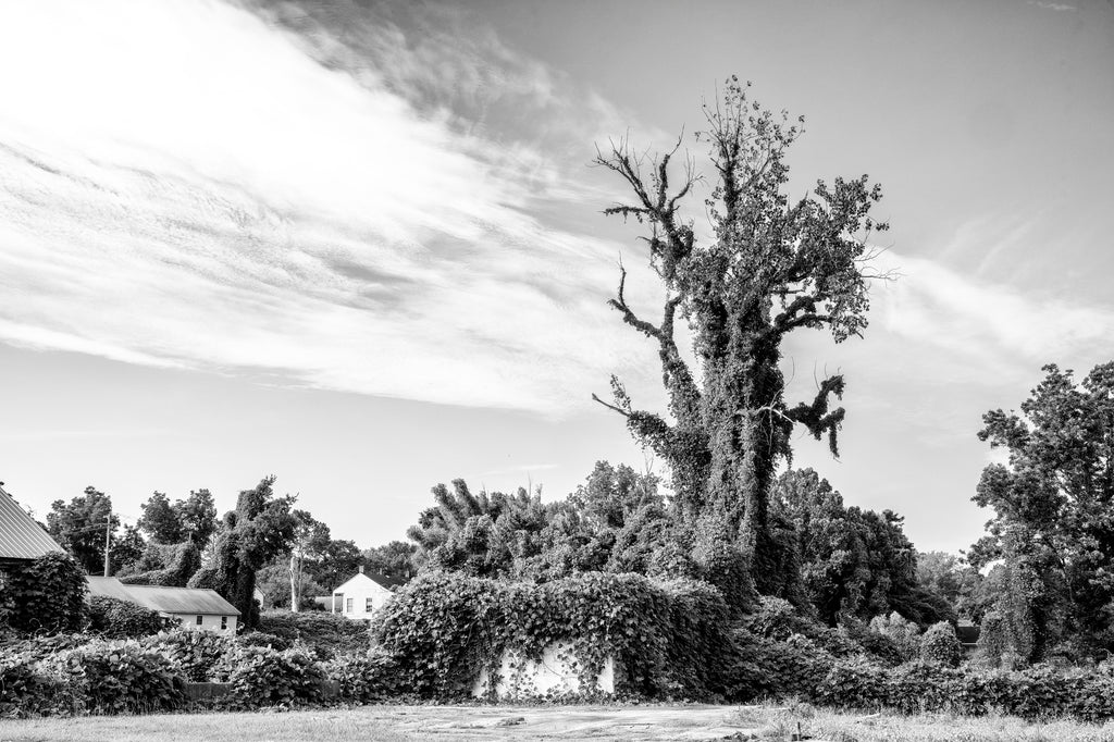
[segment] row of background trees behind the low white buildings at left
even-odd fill
[[[243,490],[236,507],[217,518],[207,489],[172,501],[156,491],[144,502],[135,526],[113,514],[110,496],[95,487],[66,502],[56,500],[46,528],[91,575],[105,574],[106,530],[109,573],[121,582],[172,587],[212,587],[235,605],[242,621],[256,625],[258,607],[316,607],[360,567],[392,583],[417,572],[411,544],[392,541],[361,550],[332,538],[326,524],[297,506],[297,498],[274,491],[265,477]],[[263,606],[254,599],[263,593]]]

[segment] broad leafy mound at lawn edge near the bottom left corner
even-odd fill
[[[86,713],[172,711],[185,703],[185,678],[170,662],[138,642],[94,640],[41,661],[69,685]]]

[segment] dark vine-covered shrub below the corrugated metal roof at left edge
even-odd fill
[[[6,568],[0,622],[21,633],[74,632],[86,619],[85,570],[74,557],[51,551]]]

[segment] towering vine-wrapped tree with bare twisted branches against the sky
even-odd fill
[[[837,453],[843,421],[843,408],[831,408],[843,393],[841,375],[819,382],[810,401],[786,402],[782,342],[799,329],[827,330],[836,342],[861,334],[873,252],[867,237],[887,225],[870,217],[881,189],[867,176],[819,182],[790,203],[785,153],[801,128],[750,101],[736,78],[705,117],[709,128],[698,136],[717,178],[706,202],[714,228],[707,244],[697,244],[692,219],[681,213],[696,180],[692,160],[680,187],[671,186],[676,148],[647,163],[622,140],[596,159],[634,196],[605,213],[649,227],[649,264],[666,290],[661,321],[627,303],[625,270],[609,304],[657,345],[672,420],[635,409],[615,378],[607,407],[670,466],[694,554],[737,606],[751,595],[751,578],[760,590],[784,580],[772,559],[768,505],[794,428],[827,436]],[[698,377],[677,345],[678,312],[692,331]]]

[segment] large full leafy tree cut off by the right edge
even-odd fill
[[[1046,365],[1020,414],[991,410],[979,439],[1008,451],[983,471],[974,500],[994,510],[974,566],[1004,560],[997,613],[1012,643],[1037,661],[1114,651],[1114,361],[1076,382]]]

